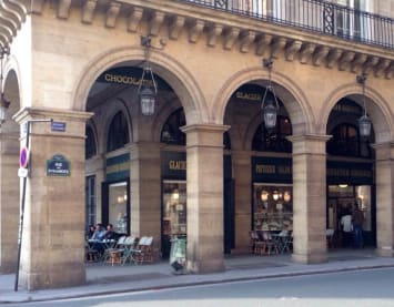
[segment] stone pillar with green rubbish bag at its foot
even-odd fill
[[[223,263],[223,132],[228,126],[185,126],[188,155],[188,269],[221,272]]]

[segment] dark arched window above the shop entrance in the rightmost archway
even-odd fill
[[[327,153],[331,155],[372,157],[368,140],[358,135],[358,129],[348,123],[339,124],[330,133],[332,139],[327,142]]]

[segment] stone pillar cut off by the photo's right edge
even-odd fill
[[[394,247],[394,143],[374,145],[376,153],[377,254],[393,257]]]

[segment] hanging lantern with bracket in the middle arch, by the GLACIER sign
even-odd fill
[[[276,126],[276,116],[279,111],[279,103],[276,100],[274,88],[271,83],[272,58],[263,59],[263,65],[269,70],[269,85],[265,88],[261,109],[263,111],[264,125],[266,130],[272,130]],[[269,94],[269,93],[272,93]]]

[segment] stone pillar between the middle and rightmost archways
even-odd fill
[[[293,255],[323,263],[326,255],[326,135],[289,137],[293,143]]]

